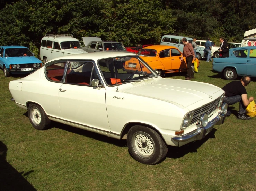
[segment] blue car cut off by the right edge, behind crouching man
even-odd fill
[[[237,47],[229,50],[229,57],[214,58],[213,70],[223,73],[227,80],[237,76],[256,77],[256,47]]]

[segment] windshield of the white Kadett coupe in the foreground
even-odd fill
[[[138,56],[101,59],[98,60],[98,64],[108,86],[158,77],[157,73]]]

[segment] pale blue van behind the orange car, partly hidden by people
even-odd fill
[[[180,50],[180,52],[183,52],[183,43],[182,43],[183,36],[176,36],[176,35],[164,35],[162,36],[162,40],[160,45],[169,45],[174,46]],[[192,43],[193,39],[189,37],[185,37],[189,43]],[[204,51],[205,48],[203,47],[197,47],[196,48],[196,57],[198,60],[201,60],[202,58],[206,58],[207,54]]]

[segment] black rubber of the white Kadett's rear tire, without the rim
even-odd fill
[[[39,125],[34,124],[32,119],[31,119],[31,116],[30,116],[30,110],[33,106],[36,107],[41,113],[41,122],[40,122]],[[39,105],[36,105],[36,104],[33,104],[33,103],[29,104],[29,106],[28,106],[28,118],[29,118],[29,121],[32,124],[32,126],[37,130],[46,130],[46,129],[49,128],[49,126],[51,124],[51,120],[47,117],[43,108],[41,108]]]

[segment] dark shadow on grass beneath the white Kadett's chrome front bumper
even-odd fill
[[[186,145],[183,145],[182,147],[168,146],[168,152],[167,152],[166,157],[177,159],[177,158],[185,156],[188,153],[197,152],[197,149],[199,147],[201,147],[201,145],[203,145],[208,139],[215,138],[214,133],[216,131],[217,130],[215,128],[213,128],[212,131],[208,135],[206,135],[206,137],[204,139],[188,143]]]

